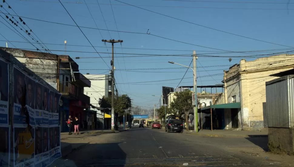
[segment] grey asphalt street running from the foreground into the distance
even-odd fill
[[[81,135],[81,140],[82,140]],[[84,139],[83,139],[84,140]],[[91,136],[84,147],[52,166],[289,166],[282,156],[264,152],[267,138],[212,138],[163,129]],[[80,143],[79,143],[80,144]],[[72,144],[75,145],[75,144]],[[286,157],[286,156],[285,156]]]

